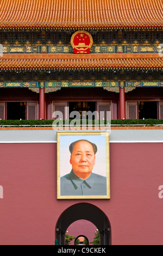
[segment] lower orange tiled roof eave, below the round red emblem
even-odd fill
[[[158,53],[4,54],[0,69],[162,69]]]

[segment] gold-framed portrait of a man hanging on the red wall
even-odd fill
[[[108,132],[57,133],[58,199],[110,198]]]

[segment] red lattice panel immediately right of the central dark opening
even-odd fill
[[[98,119],[111,119],[111,101],[97,102]]]

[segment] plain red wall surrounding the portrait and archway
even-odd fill
[[[112,245],[162,245],[162,143],[110,143],[110,200],[57,200],[57,144],[0,144],[0,244],[53,245],[69,206],[98,206]]]

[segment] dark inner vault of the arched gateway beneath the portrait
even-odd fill
[[[60,215],[56,225],[56,239],[59,245],[65,245],[65,232],[68,226],[77,220],[87,220],[96,225],[100,233],[100,244],[111,244],[111,227],[108,217],[97,206],[89,203],[74,204]]]

